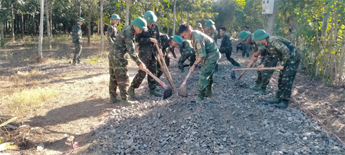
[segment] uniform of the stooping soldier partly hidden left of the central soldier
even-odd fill
[[[179,70],[184,71],[184,61],[186,61],[190,57],[190,66],[193,66],[195,63],[195,51],[192,47],[192,43],[190,41],[184,40],[182,41],[181,45],[179,45],[179,53],[181,57],[179,57]]]

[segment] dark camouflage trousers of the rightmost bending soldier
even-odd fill
[[[297,49],[294,50],[296,50],[294,61],[288,60],[284,66],[284,70],[279,72],[277,97],[283,100],[290,100],[293,90],[293,81],[295,80],[297,69],[301,61],[299,51]],[[290,49],[290,51],[292,51],[292,49]]]

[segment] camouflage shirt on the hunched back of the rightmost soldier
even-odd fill
[[[282,37],[267,37],[266,48],[268,54],[273,58],[277,57],[282,66],[285,66],[288,61],[290,61],[290,63],[295,63],[297,59],[300,59],[299,52],[295,49],[295,46]]]

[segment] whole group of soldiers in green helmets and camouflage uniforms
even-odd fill
[[[163,74],[163,66],[157,63],[159,58],[164,58],[166,64],[170,64],[170,58],[176,59],[175,47],[179,48],[181,56],[178,60],[178,68],[184,72],[186,66],[190,66],[189,71],[194,72],[195,68],[200,68],[199,74],[199,94],[196,101],[202,101],[207,96],[212,96],[213,74],[218,71],[218,61],[221,54],[226,54],[226,59],[235,66],[240,66],[237,61],[231,58],[233,45],[230,40],[230,33],[226,32],[226,28],[221,27],[219,34],[222,37],[220,48],[217,47],[217,30],[212,20],[207,20],[204,29],[201,23],[195,25],[193,30],[191,25],[184,23],[179,26],[179,34],[174,37],[168,37],[167,34],[159,32],[157,17],[152,11],[144,14],[132,21],[130,25],[126,25],[121,32],[117,32],[117,23],[120,17],[112,14],[112,23],[108,25],[108,41],[112,46],[112,50],[108,54],[109,73],[110,73],[110,102],[120,103],[121,106],[132,105],[133,101],[128,100],[128,96],[135,99],[135,89],[144,80],[146,73],[151,72],[158,78]],[[73,43],[75,43],[75,57],[72,64],[80,63],[81,53],[81,28],[84,23],[79,18],[76,25],[73,26]],[[253,34],[246,26],[245,30],[238,34],[239,41],[246,50],[243,50],[242,56],[247,54],[248,49],[253,52],[250,63],[247,68],[252,68],[253,63],[261,55],[262,61],[258,66],[258,77],[255,85],[251,87],[257,90],[256,94],[267,94],[266,87],[274,70],[262,70],[266,67],[274,67],[279,61],[279,80],[278,92],[276,98],[268,100],[277,107],[288,107],[290,100],[293,81],[297,72],[300,61],[300,54],[292,43],[282,37],[269,36],[264,30],[256,30]],[[182,38],[183,37],[183,38]],[[137,43],[137,45],[135,45]],[[136,53],[136,46],[139,53]],[[158,52],[158,50],[163,52]],[[172,53],[172,58],[169,53]],[[128,75],[128,59],[131,58],[139,66],[139,71],[132,83],[129,81]],[[184,65],[189,59],[190,64]],[[148,76],[148,87],[150,95],[163,96],[157,90],[157,82],[151,76]],[[117,87],[119,87],[119,96],[117,99]],[[126,87],[129,87],[128,90]]]

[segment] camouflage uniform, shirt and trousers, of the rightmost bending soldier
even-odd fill
[[[278,79],[278,92],[279,99],[290,100],[291,90],[293,89],[293,81],[297,73],[299,62],[301,61],[301,54],[292,43],[282,37],[267,37],[266,48],[268,54],[273,59],[279,59],[280,65],[284,66],[284,70],[280,70]],[[269,59],[264,57],[263,63],[269,63]]]

